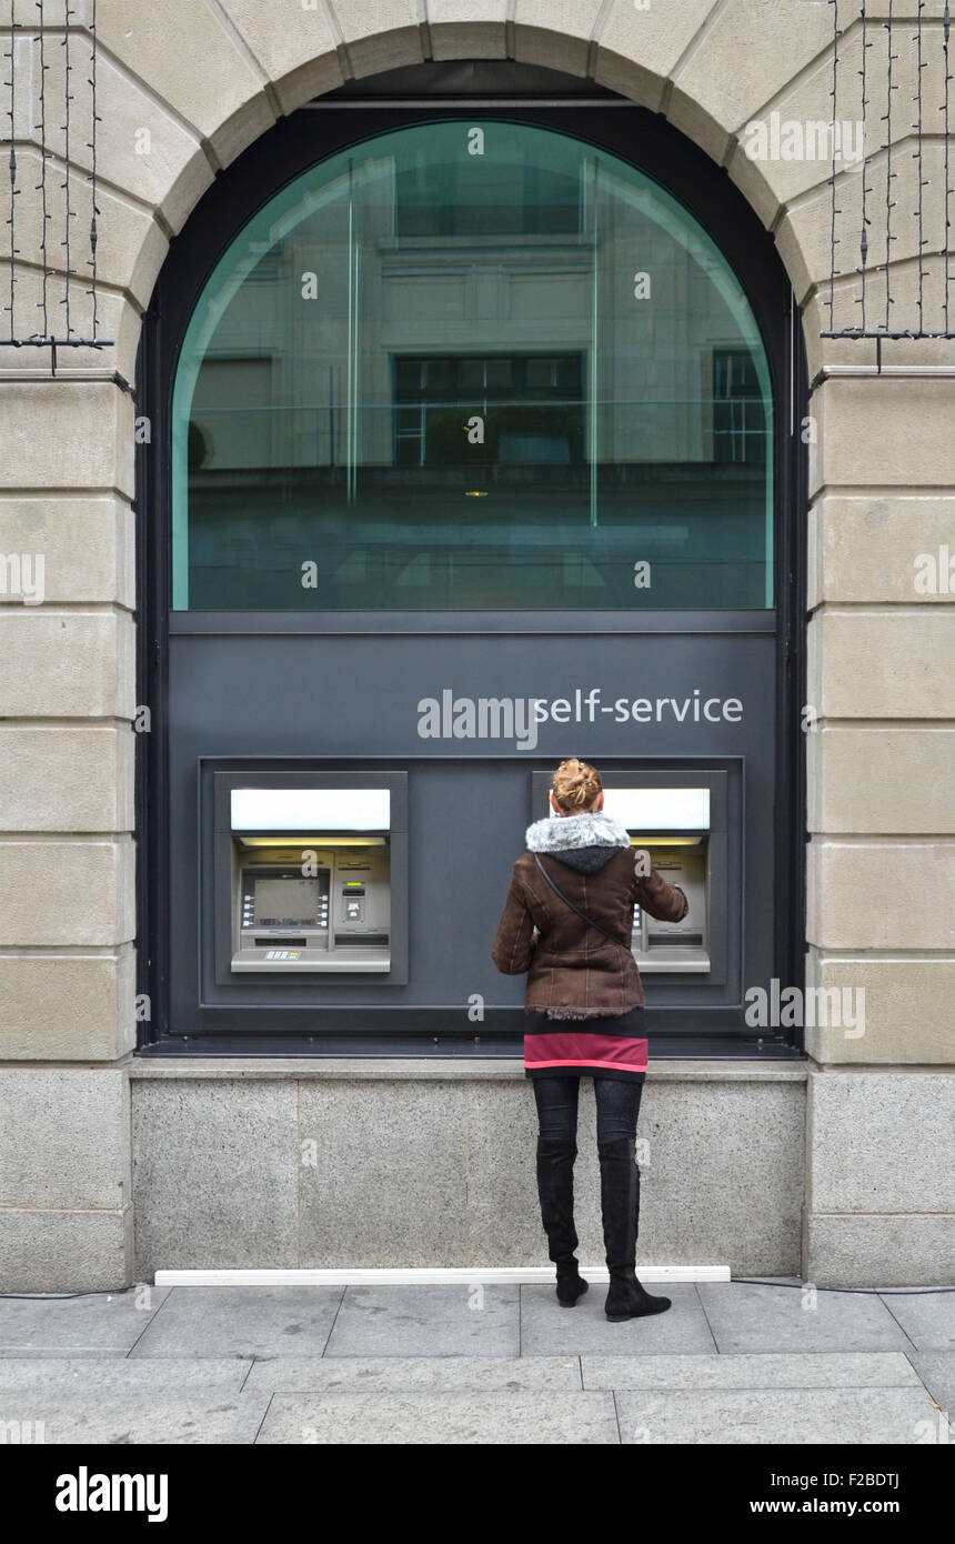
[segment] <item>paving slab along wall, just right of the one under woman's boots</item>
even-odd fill
[[[910,1351],[879,1297],[699,1282],[719,1351]],[[804,1306],[815,1303],[815,1306]]]

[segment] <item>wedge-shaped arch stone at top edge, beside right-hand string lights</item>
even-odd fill
[[[653,9],[665,22],[671,8]],[[697,9],[702,25],[714,8]],[[770,19],[765,0],[728,0],[680,63],[666,116],[722,162],[730,136],[830,43],[828,6],[776,5]]]

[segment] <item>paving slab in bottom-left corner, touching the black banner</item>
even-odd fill
[[[3,1399],[5,1420],[43,1422],[43,1442],[139,1445],[251,1444],[256,1439],[268,1394],[123,1393],[106,1400],[25,1390]],[[34,1437],[39,1441],[39,1437]],[[106,1465],[110,1467],[110,1465]]]

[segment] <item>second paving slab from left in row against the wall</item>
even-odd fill
[[[321,1356],[341,1286],[174,1286],[136,1357]]]

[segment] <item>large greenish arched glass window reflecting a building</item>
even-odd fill
[[[213,270],[174,381],[174,610],[773,599],[759,329],[617,156],[400,128],[296,176]]]

